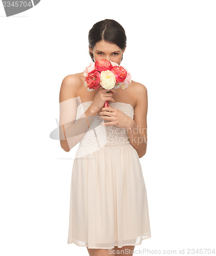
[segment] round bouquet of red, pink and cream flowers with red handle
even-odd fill
[[[106,90],[117,89],[120,86],[125,89],[131,83],[131,74],[118,63],[107,59],[98,59],[92,61],[90,65],[84,69],[85,86],[88,91],[97,90],[102,86]],[[110,93],[111,91],[109,91]],[[106,100],[104,108],[109,106],[109,101]]]

